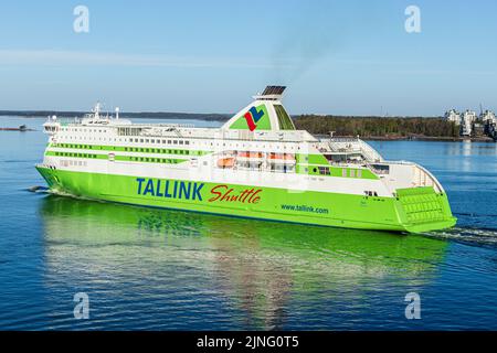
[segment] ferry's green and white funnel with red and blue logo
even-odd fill
[[[295,130],[292,118],[282,105],[285,86],[267,86],[254,101],[235,114],[222,129],[235,130]]]

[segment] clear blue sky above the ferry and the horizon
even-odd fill
[[[75,33],[73,9],[89,10]],[[404,10],[421,9],[421,33]],[[234,113],[267,84],[290,114],[497,109],[495,1],[2,1],[0,110]]]

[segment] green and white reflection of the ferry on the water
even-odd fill
[[[158,292],[170,290],[172,278],[179,292],[203,290],[228,298],[232,310],[243,312],[244,328],[277,328],[289,301],[360,299],[371,288],[425,285],[436,275],[447,246],[415,235],[52,195],[43,200],[40,212],[49,278],[64,282],[85,278],[108,286],[147,280]],[[198,281],[202,289],[192,289],[197,284],[189,274],[202,278]]]

